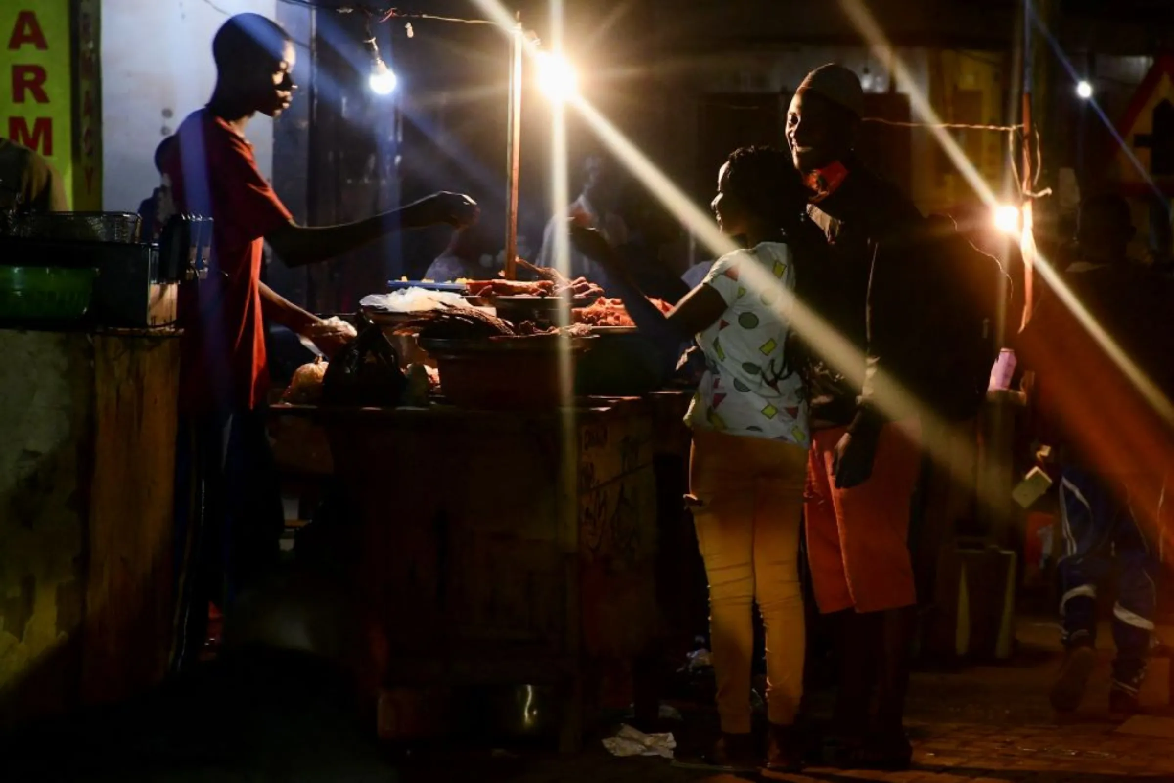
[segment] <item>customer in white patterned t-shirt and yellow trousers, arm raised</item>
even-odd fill
[[[666,340],[693,337],[706,356],[687,416],[688,501],[709,578],[722,727],[707,761],[734,770],[762,762],[750,738],[755,602],[767,630],[765,762],[787,769],[801,761],[794,731],[804,653],[798,541],[810,430],[790,328],[795,263],[783,227],[798,220],[804,203],[785,154],[751,147],[730,155],[711,208],[743,249],[718,258],[668,316],[648,303],[601,237],[572,228],[575,245],[608,271],[641,331]]]

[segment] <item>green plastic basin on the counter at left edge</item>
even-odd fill
[[[0,266],[0,319],[76,320],[86,315],[96,269]]]

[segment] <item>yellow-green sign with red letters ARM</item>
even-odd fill
[[[0,134],[35,149],[74,193],[69,0],[0,2]]]

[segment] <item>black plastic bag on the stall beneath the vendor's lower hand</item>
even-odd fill
[[[322,382],[326,405],[394,407],[407,379],[399,370],[399,355],[383,330],[359,316],[358,337],[330,360]]]

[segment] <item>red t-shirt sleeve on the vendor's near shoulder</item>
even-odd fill
[[[243,248],[289,223],[285,209],[272,185],[262,176],[252,157],[252,149],[243,139],[225,134],[227,143],[215,176],[215,188],[221,194],[221,235],[230,248]],[[222,254],[221,259],[241,258],[241,254]],[[229,275],[237,270],[225,269]]]

